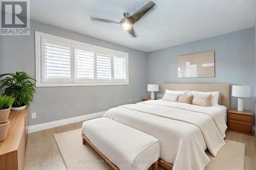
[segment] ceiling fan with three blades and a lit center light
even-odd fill
[[[113,21],[98,17],[92,17],[90,16],[92,21],[99,21],[99,22],[106,22],[106,23],[117,23],[120,24],[121,28],[130,33],[133,37],[137,37],[137,34],[135,33],[133,29],[133,25],[151,8],[153,8],[156,4],[154,2],[149,2],[146,5],[144,5],[142,8],[140,8],[138,11],[136,11],[134,14],[130,15],[128,12],[123,13],[123,18],[119,21]]]

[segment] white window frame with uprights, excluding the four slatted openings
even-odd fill
[[[57,44],[70,45],[71,49],[71,78],[45,78],[44,69],[44,42],[57,42]],[[75,50],[88,50],[94,53],[94,79],[77,79],[76,78],[76,59]],[[111,55],[111,80],[97,79],[97,53]],[[126,79],[115,79],[114,75],[114,56],[125,58],[125,76]],[[104,48],[101,46],[91,45],[67,38],[54,36],[51,34],[35,31],[35,72],[36,87],[63,87],[63,86],[107,86],[107,85],[129,85],[129,54]]]

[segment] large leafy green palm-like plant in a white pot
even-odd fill
[[[15,98],[11,109],[21,110],[29,106],[30,102],[33,101],[35,93],[35,84],[31,81],[35,80],[26,74],[26,72],[2,74],[0,75],[1,77],[5,77],[3,80],[0,80],[2,94]]]

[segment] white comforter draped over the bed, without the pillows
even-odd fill
[[[160,140],[160,158],[173,169],[204,169],[225,144],[227,128],[217,110],[163,100],[150,100],[108,110],[108,117]]]

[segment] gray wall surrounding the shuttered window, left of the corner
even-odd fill
[[[25,71],[35,77],[34,31],[129,53],[130,85],[39,87],[30,106],[29,125],[104,111],[146,96],[146,53],[31,20],[30,36],[0,36],[0,73]],[[31,112],[36,118],[31,119]]]

